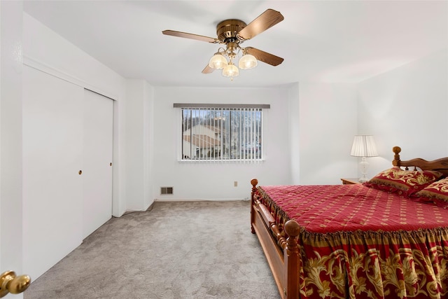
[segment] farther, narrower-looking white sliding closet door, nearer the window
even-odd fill
[[[113,100],[84,91],[83,237],[112,216]]]

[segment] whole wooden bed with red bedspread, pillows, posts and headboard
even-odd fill
[[[257,186],[251,230],[280,298],[448,298],[448,158],[367,183]]]

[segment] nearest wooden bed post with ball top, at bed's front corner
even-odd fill
[[[300,234],[299,223],[294,220],[286,221],[285,232],[288,235],[288,239],[286,239],[286,247],[283,253],[286,275],[286,289],[283,291],[286,299],[299,299],[300,252],[297,246],[297,236]]]

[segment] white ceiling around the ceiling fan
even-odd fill
[[[267,8],[283,22],[244,42],[284,58],[272,67],[202,74],[219,46],[162,34],[216,37]],[[448,1],[25,1],[24,10],[125,78],[152,85],[259,87],[356,83],[448,48]]]

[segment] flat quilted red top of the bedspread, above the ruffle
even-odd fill
[[[262,189],[269,194],[272,201],[267,203],[279,211],[279,216],[295,219],[309,232],[448,227],[447,209],[360,184]]]

